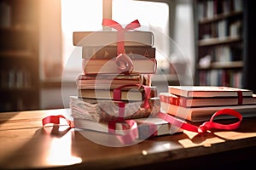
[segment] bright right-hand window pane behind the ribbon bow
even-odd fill
[[[112,18],[122,24],[128,24],[132,20],[139,20],[143,31],[154,33],[154,47],[158,68],[166,70],[169,68],[166,58],[168,52],[169,37],[169,6],[167,3],[134,0],[113,0]]]

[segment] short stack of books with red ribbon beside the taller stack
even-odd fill
[[[252,90],[215,86],[169,86],[160,93],[161,110],[191,122],[208,121],[222,109],[233,109],[243,117],[256,116],[256,95]],[[232,116],[216,116],[228,119]]]

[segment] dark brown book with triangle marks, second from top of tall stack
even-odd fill
[[[155,48],[151,46],[125,46],[125,54],[131,59],[155,59]],[[117,56],[116,46],[83,47],[83,59],[113,59]]]

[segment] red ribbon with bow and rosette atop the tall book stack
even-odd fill
[[[102,26],[109,26],[113,29],[117,30],[117,57],[115,59],[116,65],[124,74],[131,74],[131,71],[133,71],[133,62],[128,57],[128,55],[125,54],[125,31],[134,30],[137,27],[140,27],[140,23],[138,20],[133,20],[130,24],[125,26],[123,28],[118,22],[110,19],[103,19],[102,20]]]

